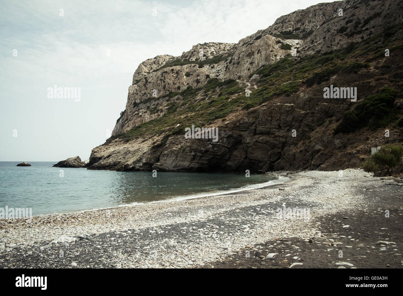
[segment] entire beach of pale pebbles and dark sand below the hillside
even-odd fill
[[[403,267],[401,179],[356,169],[342,175],[271,174],[284,183],[182,201],[2,219],[0,267],[359,268],[367,261],[377,266],[376,258],[382,266]],[[278,215],[284,208],[309,210],[309,216]],[[377,219],[372,226],[370,217]],[[357,231],[366,221],[368,227]],[[323,260],[312,255],[316,249]],[[352,249],[351,256],[365,257],[351,263]]]

